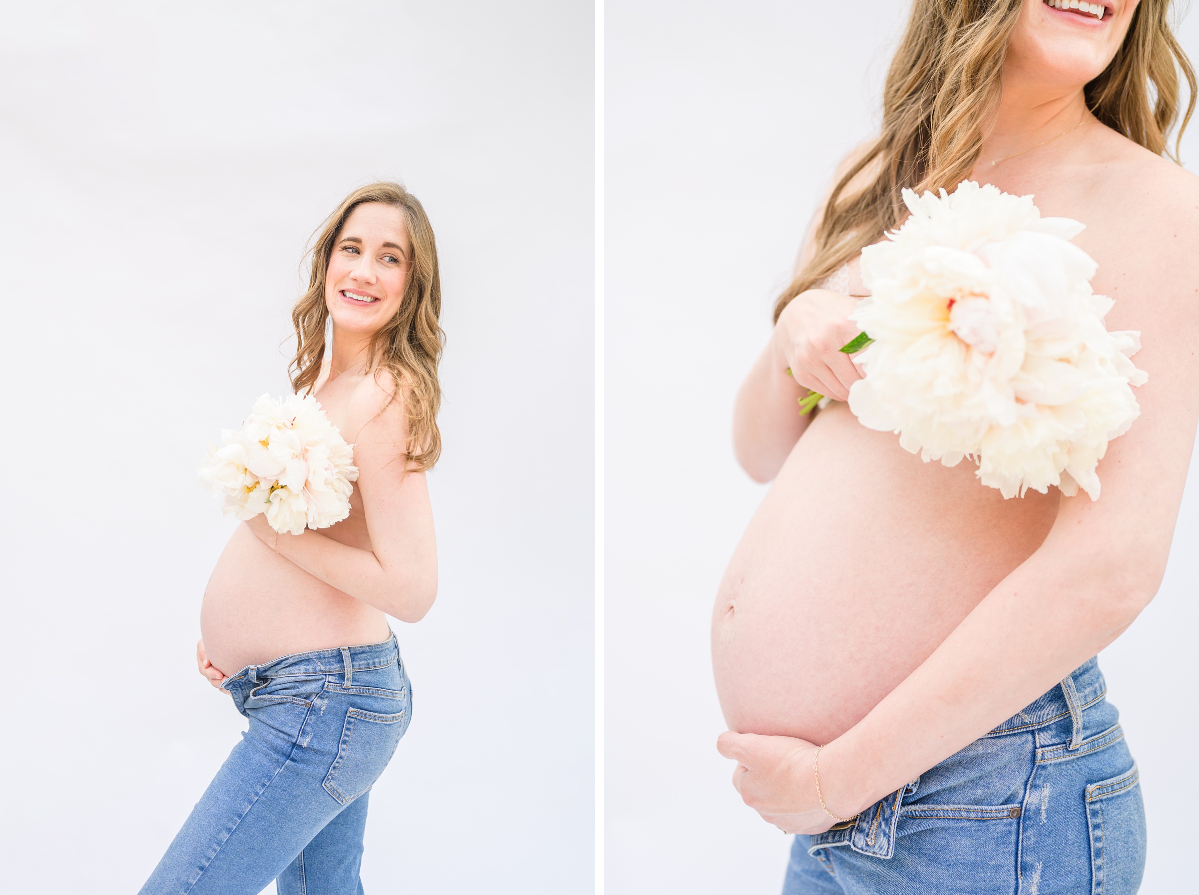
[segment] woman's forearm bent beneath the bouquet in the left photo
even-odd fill
[[[402,622],[418,622],[436,595],[436,561],[414,550],[404,560],[384,563],[369,550],[360,550],[306,530],[301,534],[273,532],[267,543],[282,556],[355,599]]]

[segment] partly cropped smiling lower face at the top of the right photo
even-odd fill
[[[1007,43],[1005,80],[1071,90],[1093,80],[1120,49],[1139,1],[1024,0]],[[1061,8],[1072,4],[1084,8]]]

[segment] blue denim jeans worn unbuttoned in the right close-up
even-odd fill
[[[784,895],[1132,895],[1137,764],[1091,659],[986,737],[815,836]]]

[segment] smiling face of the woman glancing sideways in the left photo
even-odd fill
[[[363,202],[345,219],[325,274],[325,307],[344,331],[369,335],[399,310],[412,258],[404,213]]]

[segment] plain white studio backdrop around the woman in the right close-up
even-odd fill
[[[716,588],[765,489],[733,398],[833,167],[876,127],[909,4],[607,5],[607,881],[614,895],[777,893],[790,837],[729,784]],[[1199,22],[1182,29],[1199,61]],[[1199,170],[1199,123],[1183,158]],[[1199,466],[1199,465],[1197,465]],[[1141,769],[1143,891],[1194,888],[1189,768],[1199,473],[1169,573],[1101,658]]]

